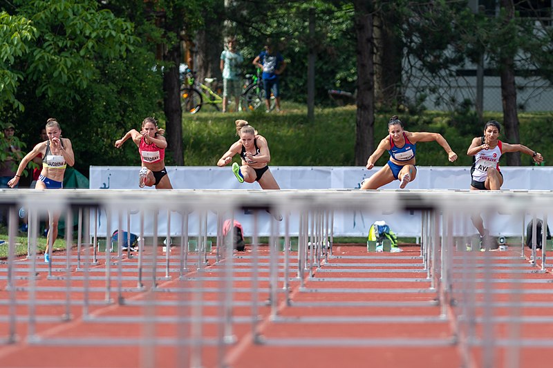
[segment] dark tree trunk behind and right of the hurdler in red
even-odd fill
[[[182,62],[179,43],[168,50],[165,59],[174,63],[174,66],[166,68],[163,73],[164,110],[167,118],[167,151],[171,153],[174,163],[182,166],[185,164],[185,159],[182,151],[182,108],[180,107],[178,77],[178,66]]]

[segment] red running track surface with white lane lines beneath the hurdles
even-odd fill
[[[456,275],[449,296],[461,300],[457,290],[467,284],[476,291],[471,304],[476,316],[474,336],[487,336],[486,328],[491,326],[492,340],[507,338],[515,328],[521,341],[540,340],[547,345],[553,340],[549,272],[540,272],[539,264],[529,264],[514,250],[454,253],[459,258],[454,264],[470,259],[473,267],[470,275]],[[270,291],[266,247],[259,250],[255,269],[251,251],[234,253],[232,306],[227,310],[221,307],[225,298],[221,288],[228,281],[225,262],[215,263],[213,254],[203,271],[198,273],[190,265],[186,278],[178,280],[178,260],[171,258],[171,277],[165,279],[165,258],[160,252],[155,292],[150,288],[153,275],[148,266],[144,287],[138,287],[136,258],[112,258],[109,274],[101,261],[85,274],[76,269],[73,254],[68,273],[66,256],[56,253],[53,277],[46,277],[46,265],[39,262],[34,280],[28,260],[17,260],[15,289],[7,288],[5,277],[1,280],[0,367],[442,368],[485,367],[490,359],[486,347],[467,343],[470,327],[459,317],[467,304],[439,304],[439,287],[431,289],[417,247],[406,247],[402,253],[367,253],[365,246],[334,246],[332,257],[319,269],[314,267],[303,285],[297,278],[297,253],[292,253],[289,293],[282,289],[281,252],[273,311],[266,303]],[[151,257],[146,255],[144,262],[148,260]],[[483,260],[489,264],[482,266]],[[6,275],[6,267],[2,265],[1,276]],[[492,280],[497,282],[486,282],[485,270],[494,270]],[[69,281],[64,278],[67,274]],[[525,284],[512,292],[512,278]],[[254,293],[256,284],[259,293]],[[485,293],[486,287],[494,292]],[[10,311],[10,298],[17,300],[15,312],[13,306]],[[32,298],[35,304],[29,304]],[[485,321],[490,309],[493,316]],[[522,322],[501,320],[514,312]],[[64,320],[67,313],[71,318]],[[225,313],[232,313],[235,339],[226,344],[219,319]],[[12,325],[9,316],[17,317]],[[10,328],[16,336],[10,335]],[[194,336],[202,338],[188,340]],[[6,341],[12,337],[14,342]],[[491,367],[548,367],[545,362],[553,361],[553,349],[539,344],[493,349]]]

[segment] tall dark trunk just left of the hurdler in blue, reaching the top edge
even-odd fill
[[[365,166],[374,151],[374,64],[372,1],[354,0],[357,37],[357,121],[355,126],[355,165]]]

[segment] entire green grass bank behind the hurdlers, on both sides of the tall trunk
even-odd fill
[[[354,166],[355,106],[315,108],[315,120],[309,122],[305,105],[283,101],[284,113],[265,113],[263,109],[245,113],[220,113],[207,108],[183,119],[184,159],[187,166],[214,166],[229,146],[236,142],[236,119],[245,119],[267,138],[273,166]],[[394,113],[375,114],[375,147],[388,135],[388,119]],[[453,164],[437,143],[418,144],[417,164],[420,166],[470,166],[472,157],[466,155],[471,140],[482,134],[484,124],[473,115],[427,111],[421,115],[397,113],[405,130],[429,131],[442,134],[458,160]],[[500,113],[485,113],[485,121],[502,120]],[[546,165],[553,157],[553,130],[544,127],[553,124],[553,113],[521,113],[521,143],[542,153]],[[500,139],[507,142],[502,130]],[[368,158],[368,157],[367,157]],[[238,162],[238,157],[234,160]],[[384,153],[377,162],[382,166],[388,160]],[[532,163],[523,156],[524,165]],[[506,160],[502,160],[506,164]]]

